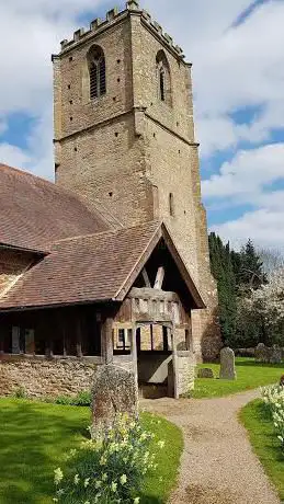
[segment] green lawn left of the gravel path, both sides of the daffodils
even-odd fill
[[[141,504],[161,504],[175,483],[183,440],[181,431],[144,413],[143,423],[167,445],[157,451],[158,469],[148,477]],[[52,504],[54,469],[87,434],[89,408],[0,399],[0,503]]]

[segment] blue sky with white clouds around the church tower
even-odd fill
[[[283,250],[284,1],[140,4],[193,62],[211,229],[236,245],[251,237],[259,247]],[[53,179],[50,54],[113,7],[104,0],[1,2],[0,162]]]

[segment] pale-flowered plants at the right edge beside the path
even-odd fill
[[[284,387],[274,385],[262,388],[262,398],[270,410],[277,438],[284,453]]]

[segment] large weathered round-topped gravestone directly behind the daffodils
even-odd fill
[[[110,427],[120,413],[138,416],[138,387],[134,373],[100,366],[92,388],[92,428]]]

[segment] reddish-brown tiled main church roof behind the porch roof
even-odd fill
[[[99,214],[64,188],[0,164],[0,243],[48,250],[63,238],[107,229]]]

